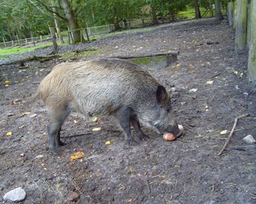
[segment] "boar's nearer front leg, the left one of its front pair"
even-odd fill
[[[131,117],[133,111],[131,108],[123,107],[117,112],[114,113],[114,116],[118,120],[120,126],[124,130],[125,133],[125,140],[127,141],[128,145],[136,144],[137,142],[132,138],[131,135]]]

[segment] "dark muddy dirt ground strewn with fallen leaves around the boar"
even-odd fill
[[[208,39],[219,43],[207,45]],[[15,187],[26,191],[20,203],[29,204],[74,203],[70,192],[79,194],[76,203],[256,203],[256,148],[243,142],[246,135],[256,139],[256,94],[248,85],[248,54],[235,54],[234,40],[225,20],[206,19],[79,45],[99,53],[79,53],[68,61],[179,50],[176,64],[146,69],[167,89],[174,88],[173,114],[185,132],[166,142],[143,128],[152,140],[140,142],[134,136],[139,144],[126,148],[115,119],[93,123],[71,113],[61,131],[67,145],[56,157],[48,147],[44,104],[38,100],[28,107],[22,101],[64,60],[30,61],[26,69],[0,66],[0,203],[10,203],[3,196]],[[60,47],[61,52],[72,49]],[[218,156],[235,118],[243,114],[248,116],[238,119],[227,149]],[[227,134],[221,135],[224,130]],[[76,152],[85,157],[72,161]]]

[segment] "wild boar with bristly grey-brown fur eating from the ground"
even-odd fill
[[[59,64],[42,80],[31,102],[39,97],[49,113],[47,132],[54,154],[65,145],[60,130],[72,110],[92,118],[113,115],[129,144],[135,142],[131,125],[141,140],[148,138],[140,123],[159,134],[181,134],[172,115],[170,94],[150,73],[129,61],[96,59]]]

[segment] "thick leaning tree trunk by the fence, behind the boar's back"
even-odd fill
[[[61,3],[65,12],[65,16],[68,20],[70,31],[72,32],[74,37],[73,43],[79,43],[81,41],[81,38],[82,41],[84,41],[84,37],[80,36],[79,25],[77,24],[75,14],[70,6],[70,3],[68,2],[68,0],[61,0]]]

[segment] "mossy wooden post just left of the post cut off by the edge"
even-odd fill
[[[246,48],[247,3],[247,0],[237,0],[235,41],[235,50],[237,54],[240,54]]]

